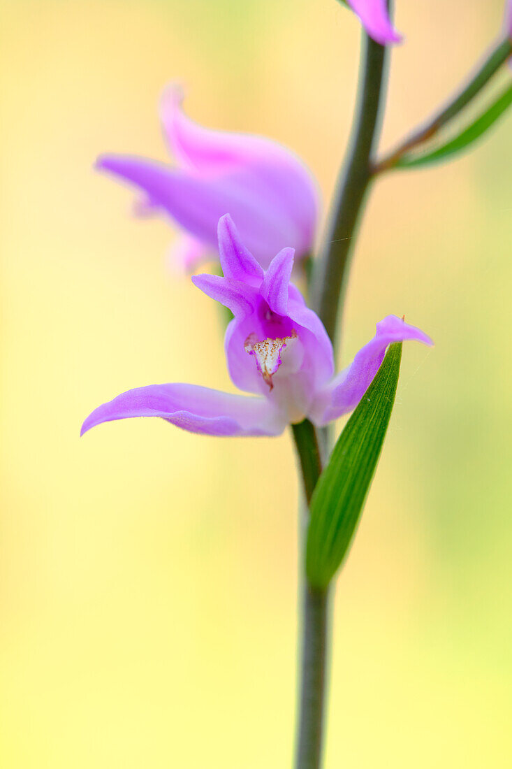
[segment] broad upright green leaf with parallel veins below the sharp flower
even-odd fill
[[[314,489],[306,544],[314,588],[327,588],[351,544],[393,410],[401,355],[401,342],[390,345]]]

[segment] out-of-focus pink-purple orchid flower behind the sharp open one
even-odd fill
[[[184,232],[175,258],[185,270],[215,256],[217,224],[225,211],[232,212],[264,267],[284,243],[298,258],[307,255],[319,213],[318,189],[308,168],[271,139],[203,128],[184,114],[182,100],[181,88],[171,85],[160,108],[175,165],[102,155],[96,167],[143,193],[136,213],[161,213],[180,225]]]

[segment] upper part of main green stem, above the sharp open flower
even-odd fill
[[[386,48],[363,33],[363,62],[351,144],[338,181],[324,248],[313,281],[313,307],[335,341],[338,311],[344,301],[347,271],[361,209],[371,181],[384,102]]]

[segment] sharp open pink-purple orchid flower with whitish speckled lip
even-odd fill
[[[224,338],[228,370],[251,396],[195,384],[151,384],[95,409],[81,434],[101,422],[131,417],[161,417],[190,432],[223,436],[278,435],[306,417],[321,426],[357,406],[387,345],[406,339],[432,344],[419,328],[388,315],[351,365],[334,375],[324,325],[290,283],[293,249],[279,251],[264,271],[229,215],[219,221],[218,245],[224,277],[198,275],[192,281],[233,312]]]

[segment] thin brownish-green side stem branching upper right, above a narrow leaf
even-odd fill
[[[507,61],[510,55],[512,55],[512,41],[506,38],[493,48],[483,64],[480,65],[480,68],[477,69],[477,72],[470,78],[467,85],[451,98],[446,107],[437,112],[425,125],[413,131],[389,155],[378,161],[377,165],[374,166],[374,174],[394,168],[408,151],[435,136],[447,122],[458,115],[480,93],[482,88],[487,85],[497,70],[504,65],[504,62]]]

